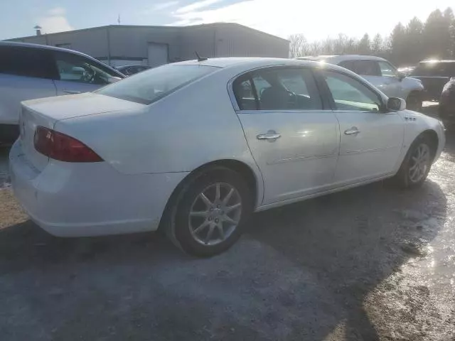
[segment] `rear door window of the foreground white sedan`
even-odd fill
[[[322,109],[321,97],[311,70],[273,67],[238,78],[233,91],[240,109]]]

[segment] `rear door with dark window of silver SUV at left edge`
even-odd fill
[[[18,124],[21,101],[55,96],[49,50],[0,46],[0,124]]]

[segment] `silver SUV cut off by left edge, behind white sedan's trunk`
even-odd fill
[[[21,101],[92,91],[122,78],[121,72],[73,50],[0,42],[0,144],[18,137]]]

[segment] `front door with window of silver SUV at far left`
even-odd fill
[[[82,55],[63,51],[53,51],[57,77],[57,94],[80,94],[91,92],[119,77],[108,67]]]

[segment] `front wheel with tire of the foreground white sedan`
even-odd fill
[[[410,146],[400,170],[393,178],[401,188],[417,188],[432,168],[434,147],[426,136],[419,136]]]

